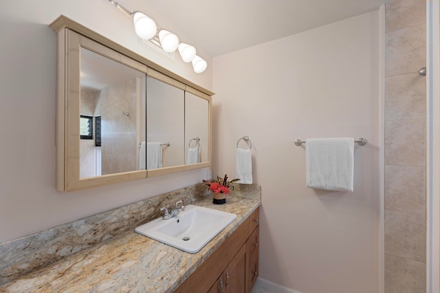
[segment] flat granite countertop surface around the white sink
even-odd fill
[[[199,253],[186,253],[133,229],[6,283],[0,292],[174,292],[260,200],[230,196],[226,204],[212,204],[211,198],[192,204],[237,215]]]

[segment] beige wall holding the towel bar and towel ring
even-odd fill
[[[379,12],[214,58],[213,176],[252,141],[260,277],[303,293],[372,293],[380,277]],[[365,137],[353,193],[305,187],[294,139]]]

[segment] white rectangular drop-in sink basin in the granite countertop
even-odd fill
[[[157,218],[135,231],[187,253],[197,253],[235,218],[233,213],[188,204],[174,218]]]

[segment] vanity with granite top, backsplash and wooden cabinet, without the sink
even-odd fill
[[[221,205],[205,191],[186,187],[1,244],[0,292],[251,292],[258,276],[260,187],[237,187]],[[135,233],[176,200],[237,218],[195,254]],[[41,262],[51,255],[51,263]]]

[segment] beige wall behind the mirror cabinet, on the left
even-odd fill
[[[142,0],[124,0],[168,28]],[[87,215],[186,187],[206,179],[197,169],[145,180],[63,193],[55,185],[56,38],[48,26],[65,14],[91,30],[212,89],[212,62],[197,74],[179,56],[169,61],[138,43],[133,21],[109,1],[17,0],[0,10],[0,242],[28,235]],[[181,41],[191,43],[173,28]]]

